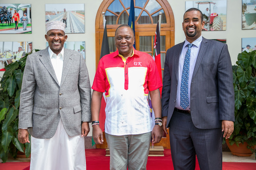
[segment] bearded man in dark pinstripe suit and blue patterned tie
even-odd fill
[[[222,169],[222,140],[234,125],[234,89],[226,44],[201,36],[202,12],[184,14],[186,40],[167,50],[162,89],[163,130],[169,127],[175,170]],[[224,134],[222,134],[224,132]]]

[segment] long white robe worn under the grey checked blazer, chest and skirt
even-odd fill
[[[53,68],[60,84],[64,49],[58,56],[48,48]],[[51,139],[31,136],[30,170],[85,170],[84,137],[70,137],[64,129],[61,118],[55,135]]]

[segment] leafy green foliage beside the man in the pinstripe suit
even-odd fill
[[[256,146],[256,50],[239,53],[237,58],[237,65],[232,66],[235,94],[234,132],[228,144],[239,146],[246,143],[245,149],[250,149],[252,153]]]

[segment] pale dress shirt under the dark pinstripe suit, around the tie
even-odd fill
[[[188,75],[188,103],[189,103],[189,105],[186,108],[186,110],[190,110],[190,84],[191,84],[191,79],[192,79],[192,75],[193,75],[194,68],[196,65],[197,55],[198,55],[198,52],[199,52],[199,49],[201,46],[202,39],[203,39],[203,37],[200,36],[199,38],[197,38],[195,41],[193,41],[191,43],[191,44],[193,44],[193,46],[191,47],[191,52],[190,52],[189,75]],[[188,46],[187,46],[188,44],[190,44],[190,43],[185,39],[185,43],[183,45],[181,55],[180,55],[180,61],[179,61],[179,79],[178,79],[175,107],[180,110],[184,110],[181,107],[181,77],[182,77],[185,55],[186,55],[186,52],[188,49]]]

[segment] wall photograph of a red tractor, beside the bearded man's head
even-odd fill
[[[227,0],[186,1],[186,11],[197,8],[203,13],[203,31],[224,31],[227,20]]]

